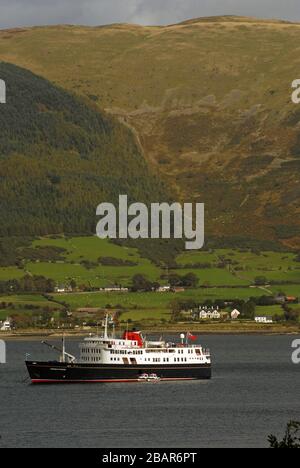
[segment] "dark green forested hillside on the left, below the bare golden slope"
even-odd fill
[[[83,98],[0,64],[0,236],[94,233],[96,207],[164,191],[132,132]],[[161,195],[163,196],[163,195]]]

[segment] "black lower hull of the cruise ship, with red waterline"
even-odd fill
[[[207,380],[209,364],[124,365],[61,362],[26,362],[33,384],[138,382],[140,377],[156,374],[160,380]]]

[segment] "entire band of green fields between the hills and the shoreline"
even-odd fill
[[[74,279],[77,285],[85,284],[94,287],[110,286],[114,283],[130,286],[131,278],[141,273],[150,280],[159,281],[166,271],[141,257],[133,248],[119,247],[106,240],[96,237],[76,238],[42,238],[33,242],[33,247],[61,247],[64,260],[59,262],[25,262],[23,271],[16,268],[1,268],[0,278],[10,279],[27,274],[43,275],[53,278],[57,284],[68,284]],[[123,261],[130,260],[136,266],[98,266],[86,268],[80,262],[83,260],[97,262],[99,257],[113,257]],[[203,303],[205,300],[248,300],[251,297],[272,295],[284,292],[286,295],[299,296],[299,285],[272,285],[267,288],[254,287],[256,276],[264,276],[273,281],[300,281],[299,263],[295,262],[293,253],[261,252],[259,255],[251,251],[232,249],[216,249],[209,252],[185,252],[176,259],[179,268],[169,270],[169,273],[185,275],[193,272],[199,278],[199,287],[187,289],[180,293],[119,293],[119,292],[89,292],[71,294],[53,294],[54,302],[47,301],[38,294],[3,295],[0,302],[12,303],[14,310],[30,313],[27,306],[59,308],[56,301],[66,303],[75,311],[83,307],[120,309],[121,320],[133,321],[169,320],[172,303],[178,300],[193,300]],[[211,268],[203,268],[209,263]],[[220,268],[220,263],[224,265]],[[197,266],[198,265],[198,266]],[[209,286],[209,287],[207,287]],[[280,306],[257,307],[257,315],[282,315]],[[7,315],[1,310],[0,318]]]

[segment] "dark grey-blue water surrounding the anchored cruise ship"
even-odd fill
[[[8,342],[0,365],[0,447],[264,447],[300,420],[300,365],[290,336],[207,336],[210,382],[31,386],[25,353],[52,358],[39,342]],[[76,353],[78,343],[69,343]]]

